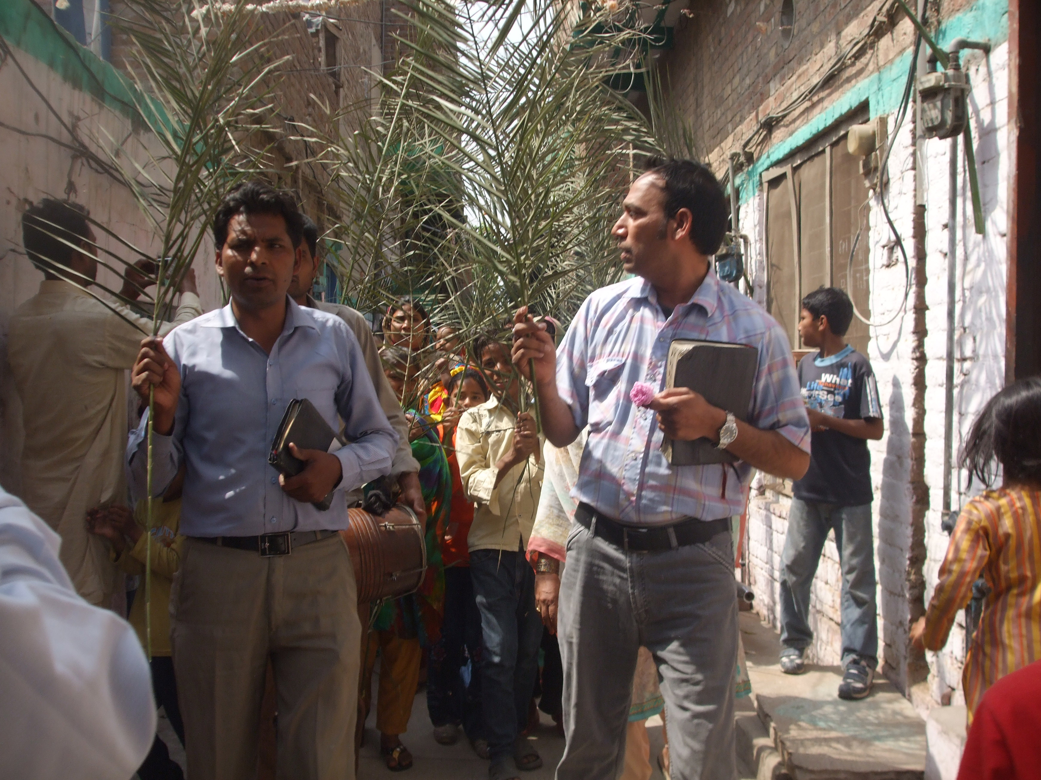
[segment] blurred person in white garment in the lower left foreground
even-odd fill
[[[0,488],[0,777],[129,778],[155,704],[133,628],[76,595],[58,535]]]

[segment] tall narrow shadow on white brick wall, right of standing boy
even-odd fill
[[[880,662],[900,688],[906,686],[908,655],[907,561],[911,543],[911,428],[904,387],[893,376],[886,410],[886,454],[882,462],[875,566],[881,618]]]

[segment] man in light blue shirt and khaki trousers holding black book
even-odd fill
[[[133,369],[154,388],[152,494],[187,467],[187,537],[171,594],[171,641],[194,780],[246,780],[257,757],[264,673],[278,692],[279,775],[354,777],[361,624],[347,547],[346,493],[389,473],[398,435],[354,334],[287,290],[302,216],[265,184],[233,189],[213,219],[224,309],[146,339]],[[308,398],[350,443],[297,450],[286,478],[268,453],[286,405]],[[131,437],[131,488],[146,492],[146,420]],[[312,505],[333,491],[332,505]]]

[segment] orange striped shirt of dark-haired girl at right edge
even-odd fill
[[[1041,660],[1041,491],[988,490],[962,510],[925,616],[929,650],[947,643],[981,576],[991,593],[962,672],[970,723],[988,687]]]

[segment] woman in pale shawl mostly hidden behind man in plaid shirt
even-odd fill
[[[547,443],[542,453],[545,458],[545,476],[542,494],[535,513],[535,525],[528,542],[528,557],[535,564],[540,555],[556,558],[561,570],[566,565],[567,534],[575,521],[576,504],[570,496],[578,483],[579,463],[585,449],[588,431],[582,431],[572,444],[558,448]],[[536,584],[536,598],[538,586]],[[542,620],[552,631],[556,631],[556,613],[552,616],[543,610]],[[740,639],[740,638],[739,638]],[[744,652],[738,645],[736,696],[751,693],[747,672],[744,668]],[[620,780],[649,780],[651,769],[651,742],[646,732],[646,721],[664,709],[665,701],[658,687],[658,669],[651,651],[639,650],[636,672],[633,675],[633,698],[629,708],[629,728],[626,731],[625,770]]]

